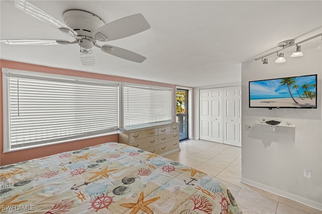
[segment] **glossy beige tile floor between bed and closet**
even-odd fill
[[[321,214],[322,211],[240,182],[241,148],[203,140],[180,143],[169,159],[204,171],[224,183],[244,214]]]

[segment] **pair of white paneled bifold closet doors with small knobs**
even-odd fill
[[[200,139],[241,146],[241,87],[200,89]]]

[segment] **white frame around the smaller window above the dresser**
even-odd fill
[[[129,85],[129,86],[138,86],[138,87],[147,87],[147,88],[160,88],[160,89],[165,89],[165,90],[169,90],[171,92],[171,101],[170,101],[170,120],[168,121],[158,121],[158,122],[154,122],[154,123],[148,123],[148,124],[142,124],[142,125],[133,125],[133,126],[127,126],[125,127],[125,119],[124,119],[124,108],[125,108],[125,104],[124,104],[124,86],[125,85]],[[172,87],[163,87],[163,86],[155,86],[155,85],[145,85],[145,84],[135,84],[135,83],[122,83],[122,113],[121,117],[122,117],[122,123],[120,123],[120,127],[123,129],[133,129],[133,128],[140,128],[140,127],[148,127],[148,126],[152,126],[152,125],[158,125],[158,124],[164,124],[164,123],[169,123],[173,120],[173,101],[174,101],[174,94],[173,94],[173,88]]]

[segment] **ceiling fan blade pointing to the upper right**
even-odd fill
[[[112,41],[132,36],[150,28],[142,14],[135,14],[110,22],[93,32],[99,41]],[[103,35],[103,36],[102,36]]]

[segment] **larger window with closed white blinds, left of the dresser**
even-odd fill
[[[119,83],[3,69],[4,151],[106,135],[119,126]]]

